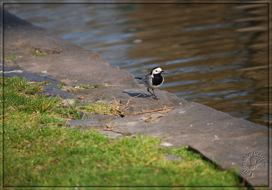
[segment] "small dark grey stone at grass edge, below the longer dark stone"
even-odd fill
[[[41,93],[46,96],[53,96],[56,97],[57,95],[63,99],[73,99],[76,98],[74,94],[71,94],[68,91],[61,90],[57,85],[55,84],[40,84],[40,86],[43,87],[43,90]]]

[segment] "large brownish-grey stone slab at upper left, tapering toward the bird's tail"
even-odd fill
[[[4,11],[4,23],[15,23],[4,28],[4,56],[18,55],[15,64],[32,72],[47,71],[69,86],[110,84],[138,87],[133,75],[118,66],[110,66],[100,55],[52,34],[49,31],[22,23],[15,15]],[[42,40],[41,40],[42,39]],[[36,51],[42,56],[32,56]]]

